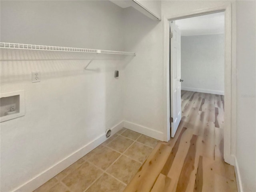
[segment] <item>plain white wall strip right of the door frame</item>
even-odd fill
[[[236,159],[244,192],[256,191],[256,3],[236,1]]]

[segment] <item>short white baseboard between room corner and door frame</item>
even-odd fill
[[[144,127],[142,125],[138,125],[129,121],[124,121],[124,127],[132,131],[141,133],[143,135],[147,135],[148,137],[152,137],[160,141],[164,141],[164,134],[160,131],[156,131],[148,127]]]

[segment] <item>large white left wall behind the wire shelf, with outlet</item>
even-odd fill
[[[1,42],[122,51],[122,25],[122,9],[108,1],[1,1]],[[25,90],[26,103],[24,117],[1,123],[1,191],[14,190],[123,120],[126,57],[97,55],[84,70],[93,57],[1,49],[1,93]],[[32,71],[41,82],[31,82]]]

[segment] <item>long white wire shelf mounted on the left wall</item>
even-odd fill
[[[136,55],[136,53],[125,51],[109,51],[101,49],[83,49],[73,47],[56,47],[46,45],[28,45],[20,43],[0,43],[0,48],[4,49],[31,49],[31,50],[44,50],[44,51],[71,51],[71,52],[85,52],[85,53],[105,53],[105,54],[118,54],[118,55]]]

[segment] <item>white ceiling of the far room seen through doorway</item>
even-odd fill
[[[176,20],[181,36],[224,33],[224,12]]]

